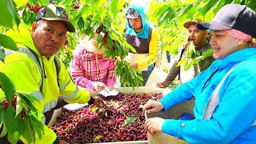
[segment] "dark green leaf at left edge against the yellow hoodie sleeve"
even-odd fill
[[[14,94],[15,94],[15,87],[14,84],[10,81],[10,78],[6,76],[6,74],[3,74],[0,72],[0,83],[2,86],[2,90],[6,94],[6,98],[11,101],[14,99]]]

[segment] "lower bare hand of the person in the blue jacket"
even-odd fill
[[[146,131],[150,134],[154,134],[155,132],[162,131],[162,123],[165,120],[162,118],[149,118],[145,122]]]

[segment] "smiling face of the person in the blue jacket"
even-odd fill
[[[210,45],[214,49],[214,58],[223,59],[229,54],[242,49],[242,43],[238,38],[231,37],[218,30],[210,30]]]

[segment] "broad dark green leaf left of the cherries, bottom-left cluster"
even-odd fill
[[[4,114],[4,122],[6,129],[13,133],[18,127],[18,118],[15,118],[15,110],[13,106],[8,106]]]

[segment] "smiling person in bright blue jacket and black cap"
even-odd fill
[[[216,59],[212,65],[158,101],[146,102],[143,112],[168,110],[195,95],[193,120],[149,118],[150,134],[162,131],[190,143],[256,143],[256,13],[238,4],[223,6],[210,22],[199,22],[199,30],[210,30]],[[220,87],[213,91],[226,73]],[[216,105],[210,117],[208,102]],[[209,116],[209,115],[208,115]]]

